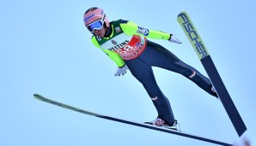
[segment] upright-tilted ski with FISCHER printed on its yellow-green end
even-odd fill
[[[189,18],[186,12],[181,12],[177,17],[177,20],[179,21],[183,31],[186,33],[186,37],[192,44],[193,49],[196,51],[199,60],[202,62],[204,69],[208,74],[212,85],[214,85],[217,95],[220,97],[222,105],[229,115],[229,119],[232,121],[237,134],[239,137],[241,137],[241,135],[247,131],[247,127],[241,119],[241,115],[239,114],[238,110],[235,108],[235,104],[229,96],[229,92],[223,84],[209,52],[199,36],[198,31],[196,30],[196,27],[192,24],[192,20]]]

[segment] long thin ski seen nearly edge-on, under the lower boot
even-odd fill
[[[148,129],[155,130],[155,131],[163,131],[163,132],[175,134],[175,135],[182,136],[182,137],[189,137],[189,138],[197,139],[197,140],[208,142],[208,143],[215,143],[215,144],[218,144],[218,145],[231,145],[229,143],[222,143],[222,142],[212,140],[212,139],[209,139],[209,138],[198,137],[198,136],[195,136],[195,135],[192,135],[192,134],[187,134],[187,133],[182,132],[182,131],[175,131],[175,130],[171,130],[171,129],[163,128],[163,127],[159,127],[159,126],[150,126],[150,125],[147,125],[147,124],[144,124],[144,123],[138,123],[138,122],[134,122],[134,121],[131,121],[131,120],[123,120],[123,119],[119,119],[119,118],[115,118],[115,117],[107,116],[107,115],[103,115],[103,114],[95,114],[93,112],[89,112],[87,110],[83,110],[83,109],[80,109],[80,108],[75,108],[75,107],[72,107],[70,105],[67,105],[67,104],[64,104],[64,103],[61,103],[61,102],[55,102],[55,101],[53,101],[51,99],[48,99],[44,96],[40,96],[39,94],[34,94],[34,97],[36,99],[39,99],[40,101],[43,101],[43,102],[48,102],[48,103],[51,103],[53,105],[57,105],[57,106],[62,107],[62,108],[67,108],[67,109],[70,109],[70,110],[73,110],[73,111],[76,111],[76,112],[79,112],[79,113],[82,113],[82,114],[88,114],[88,115],[92,115],[92,116],[102,118],[102,119],[106,119],[106,120],[113,120],[113,121],[117,121],[117,122],[120,122],[120,123],[125,123],[125,124],[128,124],[128,125],[131,125],[131,126],[139,126],[139,127],[148,128]]]

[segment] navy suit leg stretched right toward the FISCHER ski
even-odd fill
[[[187,79],[192,80],[192,82],[210,95],[216,96],[216,94],[211,91],[212,84],[210,83],[210,79],[199,73],[195,68],[180,61],[177,56],[159,44],[148,41],[147,48],[139,58],[151,66],[162,67],[174,73],[180,73]]]

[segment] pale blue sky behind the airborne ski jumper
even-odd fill
[[[247,132],[237,136],[221,102],[179,74],[154,67],[181,130],[226,143],[256,139],[255,3],[228,1],[1,1],[0,145],[213,145],[160,131],[101,120],[34,99],[39,93],[95,113],[138,122],[154,120],[155,108],[131,73],[90,43],[82,15],[105,9],[109,20],[132,20],[174,33],[183,44],[153,40],[201,73],[204,67],[177,22],[186,11],[204,40]]]

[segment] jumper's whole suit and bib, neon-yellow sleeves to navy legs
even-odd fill
[[[174,123],[174,114],[168,98],[157,85],[152,67],[162,67],[180,73],[196,85],[216,96],[210,91],[210,79],[159,44],[147,38],[168,40],[169,33],[149,30],[130,20],[114,20],[107,29],[107,37],[93,36],[92,43],[104,51],[118,67],[129,67],[131,74],[143,85],[158,113],[169,125]]]

